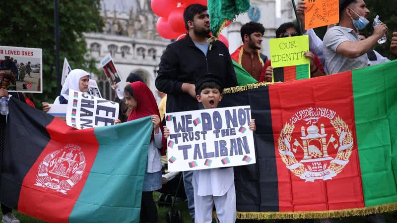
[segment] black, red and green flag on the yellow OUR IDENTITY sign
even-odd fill
[[[309,75],[309,64],[275,67],[273,69],[274,82],[302,80],[309,78]]]

